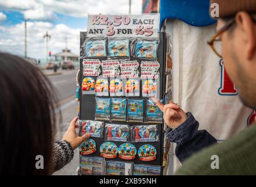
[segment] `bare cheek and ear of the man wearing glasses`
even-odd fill
[[[242,15],[244,16],[244,15]],[[250,17],[249,17],[250,18]],[[248,23],[245,16],[243,22],[236,22],[234,28],[224,32],[220,39],[222,40],[222,56],[224,67],[231,81],[237,86],[238,94],[245,106],[256,108],[256,58],[254,37],[250,36],[250,30],[253,33],[254,23]],[[226,22],[219,19],[217,30],[222,28]],[[252,24],[250,26],[250,24]],[[256,33],[255,33],[256,34]],[[253,54],[250,56],[250,54]]]

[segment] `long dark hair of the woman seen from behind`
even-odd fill
[[[39,68],[0,53],[0,175],[51,174],[56,103]],[[36,168],[37,155],[43,156],[44,169]]]

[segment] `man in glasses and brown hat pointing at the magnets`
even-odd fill
[[[256,109],[256,1],[212,0],[213,3],[219,4],[217,32],[207,43],[223,58],[241,101]],[[170,127],[167,137],[177,143],[179,160],[184,161],[195,153],[182,163],[178,175],[256,174],[256,125],[224,143],[215,144],[215,138],[206,130],[198,130],[199,124],[191,113],[185,113],[172,102],[167,105],[155,102]]]

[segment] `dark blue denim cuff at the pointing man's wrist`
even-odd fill
[[[217,140],[206,130],[198,130],[199,123],[195,120],[192,113],[186,113],[186,121],[176,129],[168,128],[166,136],[172,143],[177,143],[175,154],[180,162],[186,160],[193,153],[202,148],[210,146]]]

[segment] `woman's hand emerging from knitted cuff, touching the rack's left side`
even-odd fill
[[[87,140],[91,134],[86,133],[83,136],[77,136],[77,133],[75,132],[75,122],[77,122],[78,117],[75,117],[70,122],[70,127],[68,127],[68,130],[65,132],[62,140],[68,141],[72,148],[77,148],[84,140]]]

